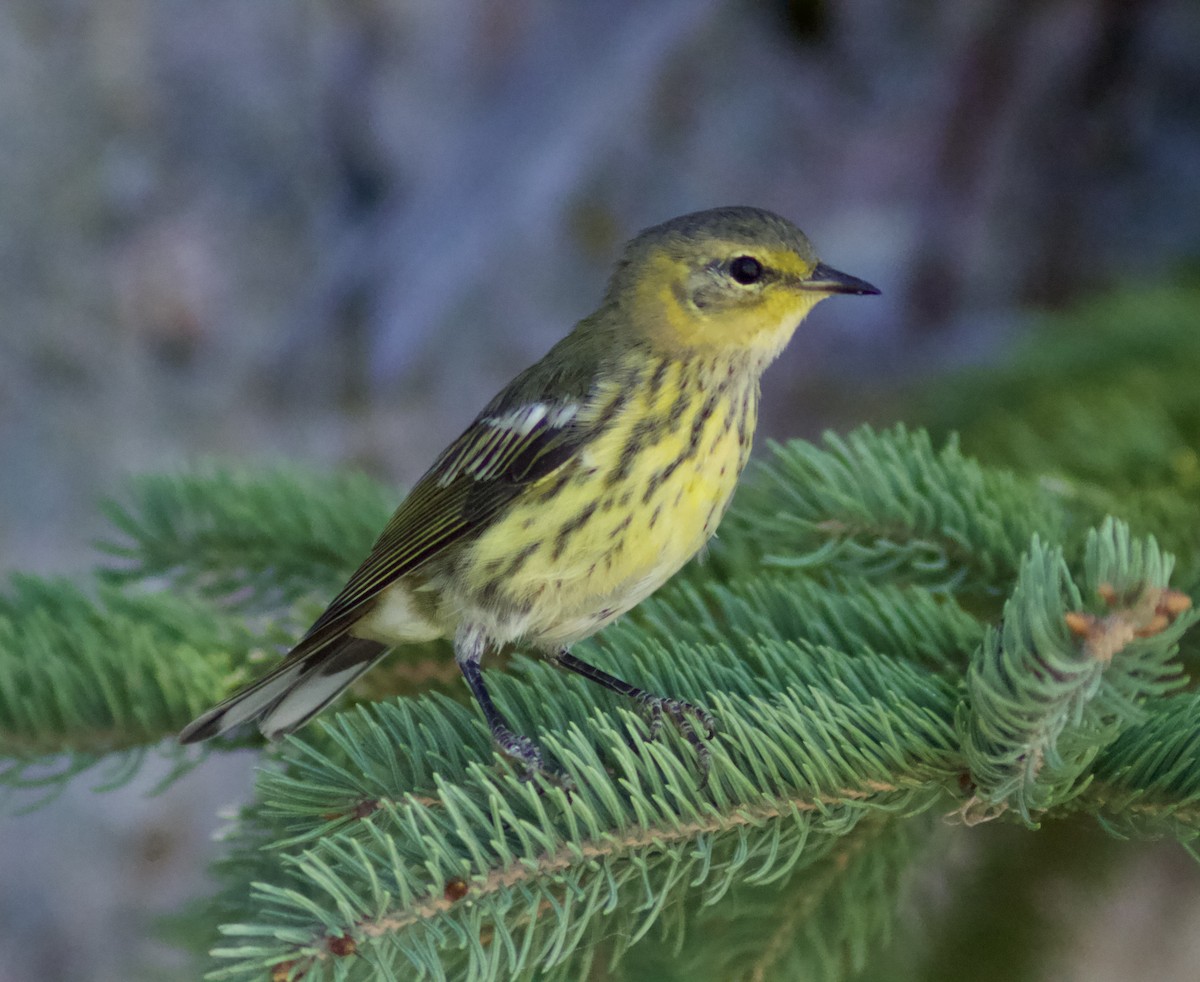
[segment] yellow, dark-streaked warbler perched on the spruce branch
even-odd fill
[[[496,743],[527,773],[480,672],[520,641],[632,696],[694,742],[703,709],[570,653],[649,597],[716,529],[750,454],[758,377],[815,304],[878,293],[791,222],[684,215],[625,247],[599,310],[517,376],[433,462],[371,555],[274,671],[193,721],[185,743],[257,719],[295,730],[394,645],[454,637]],[[701,758],[702,770],[704,758]]]

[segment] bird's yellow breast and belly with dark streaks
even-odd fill
[[[601,394],[580,456],[532,485],[467,568],[502,637],[569,645],[653,593],[716,529],[754,432],[757,382],[684,363]]]

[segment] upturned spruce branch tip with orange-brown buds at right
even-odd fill
[[[1088,766],[1142,718],[1147,699],[1184,684],[1177,641],[1194,617],[1168,589],[1172,561],[1108,520],[1088,533],[1085,587],[1062,550],[1034,537],[998,628],[967,672],[958,729],[974,782],[967,821],[1014,807],[1027,824],[1090,780]],[[1085,611],[1103,600],[1103,617]]]

